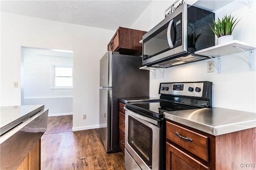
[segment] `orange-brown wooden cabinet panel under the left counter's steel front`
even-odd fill
[[[23,160],[17,170],[40,170],[41,169],[41,139],[36,143],[28,156]]]

